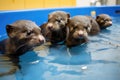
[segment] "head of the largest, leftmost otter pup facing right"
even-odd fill
[[[6,31],[10,40],[10,43],[18,48],[32,48],[37,45],[41,45],[45,42],[45,38],[41,34],[41,29],[32,21],[19,20],[13,24],[6,26]]]

